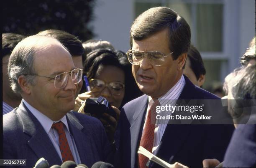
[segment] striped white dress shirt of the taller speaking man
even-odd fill
[[[185,82],[185,78],[182,77],[179,79],[179,81],[177,82],[177,84],[175,84],[169,91],[166,92],[166,94],[164,94],[164,96],[161,96],[158,101],[161,104],[161,106],[165,106],[167,105],[171,105],[174,106],[177,102],[177,99],[179,99],[179,95],[181,94],[184,86],[185,86],[186,82]],[[151,101],[151,96],[148,96],[148,102]],[[147,108],[147,112],[146,112],[146,117],[149,111],[149,103],[148,103],[148,108]],[[162,111],[164,112],[164,111]],[[146,117],[145,117],[145,121],[146,121]],[[144,126],[143,126],[143,130],[145,127],[145,121],[144,121]],[[161,120],[161,124],[158,124],[156,120],[156,125],[155,125],[155,130],[154,130],[154,143],[153,143],[153,148],[152,148],[152,153],[156,154],[157,152],[157,148],[159,146],[159,143],[161,141],[161,138],[164,134],[165,128],[168,124],[169,120]],[[164,123],[163,123],[164,122]]]

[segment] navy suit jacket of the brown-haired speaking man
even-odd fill
[[[187,77],[179,99],[219,99],[195,86]],[[117,167],[133,168],[138,164],[138,147],[148,96],[143,95],[123,106],[116,131]],[[171,164],[179,162],[189,167],[202,167],[205,158],[223,160],[234,130],[233,125],[181,125],[168,124],[156,156]],[[161,167],[156,163],[149,167]]]

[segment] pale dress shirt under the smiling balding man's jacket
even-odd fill
[[[60,151],[60,148],[59,148],[59,134],[55,129],[51,128],[51,126],[52,126],[52,124],[57,123],[59,121],[61,121],[65,125],[64,126],[64,131],[66,133],[67,141],[69,143],[69,148],[70,148],[70,150],[72,152],[72,155],[74,157],[74,161],[77,164],[81,164],[81,160],[80,160],[80,157],[79,157],[79,153],[77,151],[76,143],[74,141],[74,138],[73,138],[72,134],[69,131],[69,126],[68,126],[68,123],[67,123],[66,116],[62,117],[59,121],[52,121],[46,115],[42,114],[40,111],[38,111],[33,106],[28,104],[28,102],[26,102],[25,100],[23,100],[23,101],[24,101],[24,104],[26,105],[26,107],[31,111],[31,113],[36,117],[36,119],[43,126],[44,130],[46,131],[47,135],[49,136],[49,138],[51,140],[51,143],[53,144],[55,150],[57,151],[61,161],[62,161],[62,157],[61,157],[61,151]]]

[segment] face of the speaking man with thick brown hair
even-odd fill
[[[169,49],[169,32],[167,29],[151,35],[144,40],[133,40],[133,50],[136,51],[159,51],[167,55],[171,53]],[[133,77],[139,89],[157,99],[163,96],[172,88],[182,76],[182,66],[184,65],[187,54],[182,54],[178,59],[173,60],[171,54],[165,57],[165,62],[161,66],[152,65],[147,57],[140,65],[133,65]]]

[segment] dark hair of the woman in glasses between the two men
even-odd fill
[[[90,52],[84,62],[83,69],[89,80],[95,77],[100,65],[118,67],[125,74],[125,96],[120,107],[141,95],[141,91],[138,89],[131,73],[131,64],[128,62],[124,52],[110,51],[108,49],[97,49]]]

